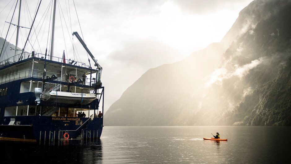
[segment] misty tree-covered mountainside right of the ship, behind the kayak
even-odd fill
[[[219,43],[145,72],[106,126],[291,125],[291,1],[255,0]]]

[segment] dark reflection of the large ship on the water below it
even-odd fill
[[[102,163],[100,139],[42,141],[37,143],[0,141],[2,161],[30,163]],[[5,149],[4,149],[5,148]],[[13,158],[17,156],[17,158]]]

